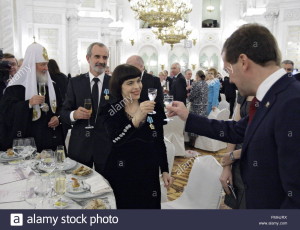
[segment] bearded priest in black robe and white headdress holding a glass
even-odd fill
[[[58,116],[62,99],[50,78],[48,60],[43,46],[31,44],[22,67],[9,82],[0,103],[5,132],[2,148],[12,147],[15,138],[26,137],[35,139],[38,152],[63,144]]]

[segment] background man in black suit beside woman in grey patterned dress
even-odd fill
[[[180,73],[181,66],[179,63],[171,65],[171,75],[174,76],[170,94],[173,95],[174,101],[182,101],[186,104],[187,90],[186,81],[182,73]]]

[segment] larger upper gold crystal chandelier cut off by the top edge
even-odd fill
[[[128,0],[137,18],[159,31],[172,26],[192,11],[189,0]]]

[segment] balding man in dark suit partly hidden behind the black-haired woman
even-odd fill
[[[156,101],[156,103],[159,103],[163,108],[164,107],[164,97],[163,97],[163,91],[162,91],[162,87],[160,84],[160,80],[158,77],[154,77],[153,75],[148,74],[145,71],[144,60],[142,59],[142,57],[140,57],[138,55],[130,56],[126,61],[126,64],[133,65],[142,72],[143,88],[142,88],[140,100],[141,101],[149,100],[149,97],[148,97],[148,89],[149,88],[157,89],[157,96],[155,98],[155,101]]]

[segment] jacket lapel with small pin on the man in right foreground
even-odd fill
[[[259,107],[256,110],[256,113],[253,117],[253,120],[251,124],[246,129],[245,139],[243,143],[243,153],[247,152],[246,149],[248,148],[248,145],[251,142],[252,137],[254,136],[257,128],[261,124],[261,122],[264,120],[265,116],[268,114],[268,112],[271,110],[272,106],[276,103],[277,100],[277,94],[285,90],[288,85],[291,83],[289,77],[287,75],[284,75],[281,77],[267,92],[263,100],[259,103]]]

